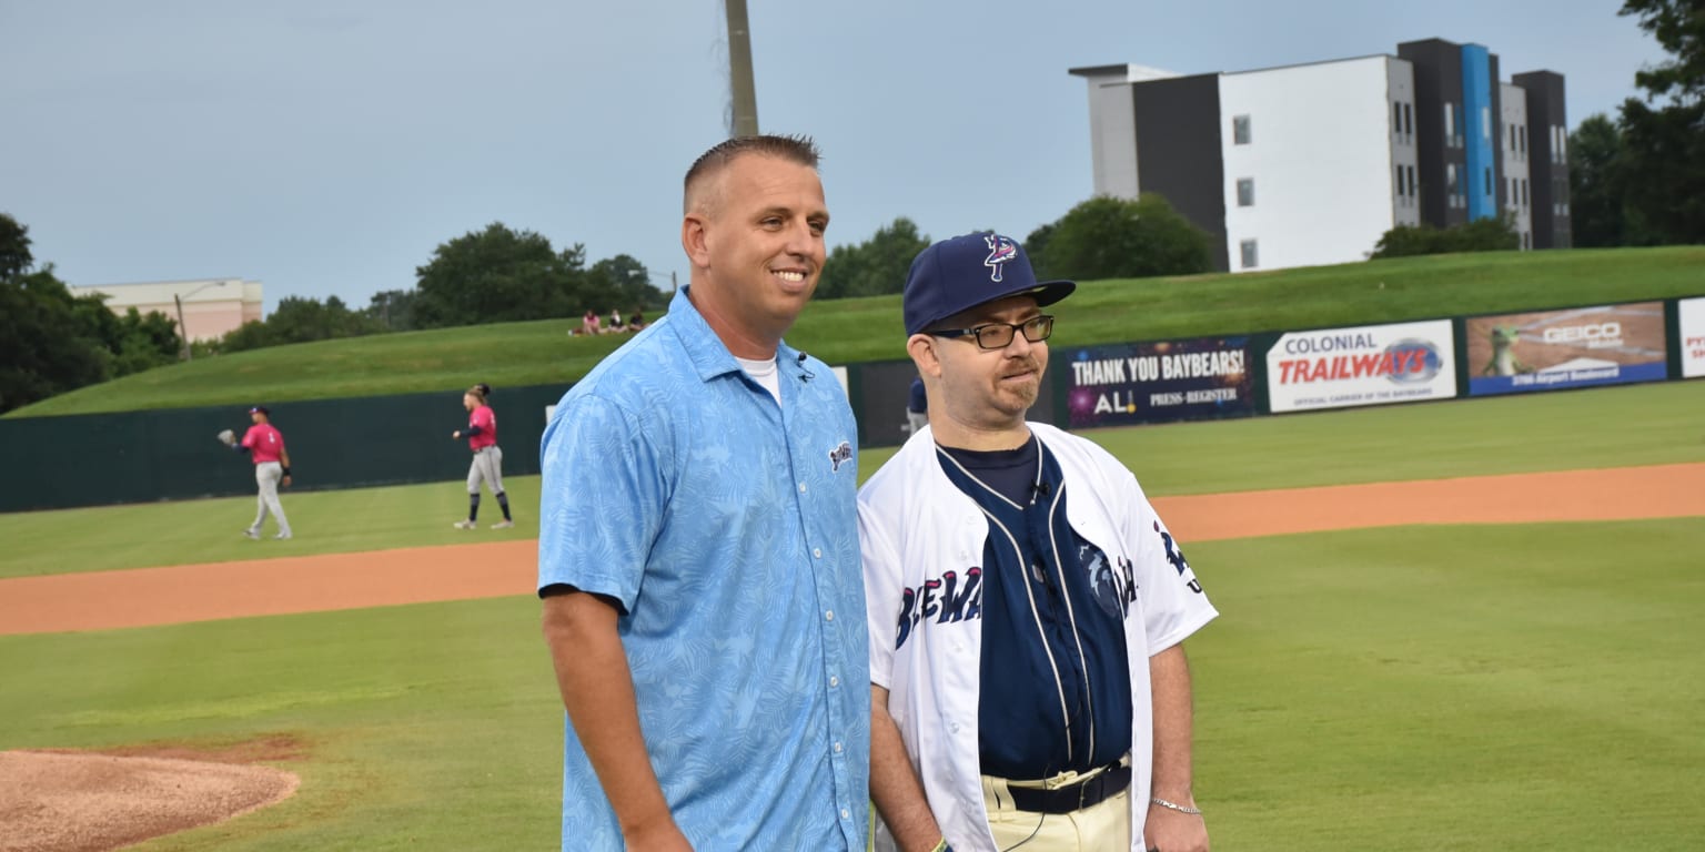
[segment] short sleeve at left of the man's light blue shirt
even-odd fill
[[[621,406],[566,400],[539,469],[539,588],[566,583],[633,612],[667,503],[651,440]]]

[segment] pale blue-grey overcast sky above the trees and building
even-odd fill
[[[1569,124],[1664,58],[1620,0],[748,0],[764,131],[824,148],[829,244],[1016,237],[1091,194],[1067,68],[1236,72],[1478,43]],[[240,276],[365,307],[491,222],[685,283],[726,135],[720,0],[0,0],[0,211],[72,285]]]

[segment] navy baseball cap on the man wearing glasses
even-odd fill
[[[905,334],[912,336],[962,312],[1006,296],[1030,295],[1052,305],[1076,290],[1072,281],[1037,281],[1025,247],[994,232],[941,240],[921,252],[905,274]]]

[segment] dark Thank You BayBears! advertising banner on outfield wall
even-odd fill
[[[1049,371],[1081,429],[1255,414],[1248,365],[1248,337],[1195,337],[1078,349]]]

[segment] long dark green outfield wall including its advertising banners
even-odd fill
[[[1475,399],[1705,377],[1705,296],[1241,336],[1055,346],[1030,417],[1071,429]],[[910,361],[837,366],[859,446],[907,438]],[[539,472],[569,385],[498,389],[503,472]],[[266,400],[259,400],[266,402]],[[269,406],[297,489],[467,474],[462,389]],[[252,467],[215,435],[242,407],[0,419],[0,511],[249,494]]]

